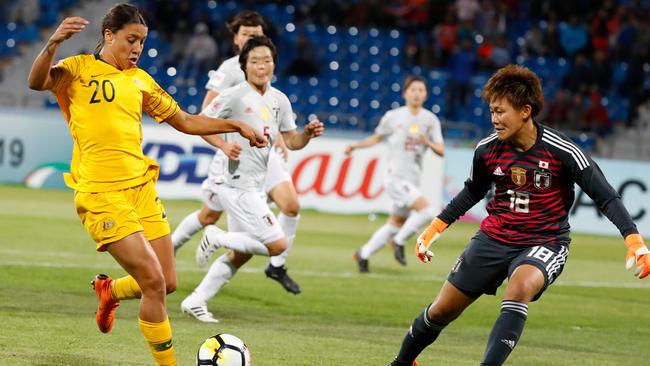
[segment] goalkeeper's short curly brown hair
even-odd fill
[[[542,82],[534,72],[520,65],[507,65],[497,70],[483,88],[486,103],[506,98],[513,107],[522,109],[527,104],[536,116],[544,107]]]

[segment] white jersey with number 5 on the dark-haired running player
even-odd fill
[[[269,140],[266,147],[256,148],[251,147],[248,140],[238,133],[224,134],[226,141],[237,141],[242,147],[239,159],[228,159],[219,167],[219,163],[215,162],[218,157],[215,156],[211,167],[220,170],[214,172],[216,181],[247,191],[261,191],[273,139],[278,131],[288,132],[296,129],[289,98],[272,86],[268,86],[264,95],[260,95],[248,82],[242,82],[220,93],[201,114],[242,121]],[[221,152],[218,154],[223,156]]]

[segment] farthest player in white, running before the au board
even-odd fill
[[[427,99],[424,79],[408,77],[403,90],[406,105],[386,112],[372,136],[345,148],[349,155],[386,139],[390,151],[384,189],[393,207],[388,222],[354,253],[362,273],[368,272],[368,258],[391,241],[395,259],[406,265],[404,243],[435,215],[419,187],[424,153],[429,149],[439,156],[445,153],[440,120],[423,108]]]

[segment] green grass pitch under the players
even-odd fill
[[[0,197],[0,364],[152,364],[136,301],[122,303],[111,333],[97,330],[90,280],[96,273],[124,271],[110,255],[95,252],[72,194],[0,186]],[[199,203],[165,205],[174,226]],[[193,260],[197,235],[179,252],[179,287],[167,300],[179,364],[193,365],[203,339],[221,332],[244,339],[255,366],[388,363],[477,226],[453,225],[429,265],[411,255],[408,266],[400,267],[384,249],[371,258],[372,273],[360,275],[351,255],[383,220],[303,212],[288,261],[303,293],[286,293],[264,276],[266,258],[254,258],[209,303],[220,319],[209,325],[182,314],[179,306],[204,273]],[[625,271],[621,238],[573,238],[564,273],[530,305],[507,364],[648,364],[650,279],[639,281]],[[424,351],[420,364],[477,365],[502,291],[480,298]]]

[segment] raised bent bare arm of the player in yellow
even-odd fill
[[[52,68],[52,60],[59,45],[74,34],[86,28],[88,21],[81,17],[65,18],[47,41],[43,50],[36,56],[27,78],[33,90],[51,90],[56,81],[65,75],[65,68]]]

